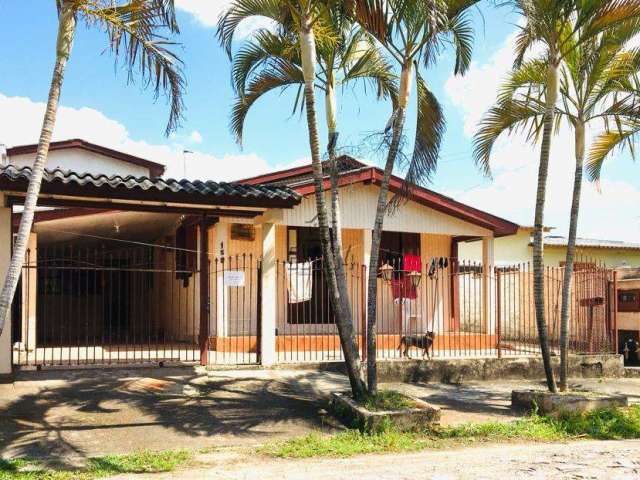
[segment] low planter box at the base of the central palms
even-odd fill
[[[403,432],[424,430],[440,424],[440,409],[419,398],[406,395],[415,402],[414,408],[392,411],[369,411],[356,403],[350,394],[331,395],[333,413],[348,427],[363,432],[380,432],[394,428]]]

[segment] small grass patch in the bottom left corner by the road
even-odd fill
[[[0,480],[91,480],[112,475],[171,472],[191,460],[186,450],[136,452],[128,455],[92,457],[84,468],[54,470],[30,459],[0,459]]]

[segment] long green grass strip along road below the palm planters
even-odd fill
[[[468,423],[422,433],[395,430],[373,434],[358,430],[333,435],[312,433],[265,445],[259,449],[259,453],[284,458],[350,457],[366,453],[448,448],[478,442],[550,442],[584,438],[640,438],[640,405],[586,413],[565,413],[559,417],[534,414],[512,422]]]

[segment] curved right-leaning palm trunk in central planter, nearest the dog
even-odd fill
[[[400,94],[398,97],[398,107],[394,112],[393,130],[387,160],[384,166],[380,191],[378,192],[378,203],[376,205],[376,216],[371,234],[371,256],[369,260],[368,284],[367,284],[367,385],[369,395],[378,393],[378,366],[377,355],[377,332],[376,314],[378,300],[378,260],[380,258],[380,242],[382,240],[382,229],[384,227],[384,217],[387,212],[389,193],[389,182],[393,167],[395,166],[400,140],[404,130],[406,108],[409,103],[413,76],[413,65],[409,62],[405,64],[400,76]]]

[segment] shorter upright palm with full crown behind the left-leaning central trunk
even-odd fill
[[[356,28],[339,9],[328,12],[329,24],[324,25],[332,40],[317,48],[319,66],[316,88],[325,96],[325,121],[327,126],[327,152],[331,182],[331,233],[336,274],[342,275],[344,263],[341,251],[340,201],[338,192],[338,145],[336,90],[361,81],[372,84],[379,99],[391,98],[395,103],[397,85],[391,67],[381,55],[374,39],[362,28]],[[324,23],[324,22],[323,22]],[[289,32],[272,32],[261,29],[253,39],[243,45],[233,56],[232,74],[238,98],[232,107],[231,129],[242,144],[244,124],[253,104],[266,93],[284,90],[291,86],[298,89],[293,110],[304,108],[300,98],[304,78],[300,61],[300,48]]]

